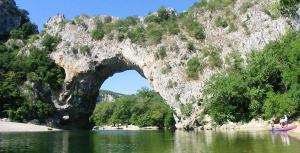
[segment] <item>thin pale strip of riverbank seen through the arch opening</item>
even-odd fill
[[[157,126],[139,127],[136,125],[121,125],[121,126],[95,126],[93,130],[159,130]]]

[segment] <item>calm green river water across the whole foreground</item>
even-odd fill
[[[300,153],[286,133],[60,131],[0,133],[2,153]]]

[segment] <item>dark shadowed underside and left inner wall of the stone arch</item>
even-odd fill
[[[101,64],[95,67],[94,71],[79,74],[71,82],[66,83],[63,89],[64,93],[55,103],[60,118],[68,116],[68,119],[62,120],[62,126],[91,128],[89,117],[95,108],[99,88],[106,79],[115,73],[126,70],[135,70],[145,78],[143,70],[139,66],[125,59],[122,55],[116,54],[112,58],[103,60]]]

